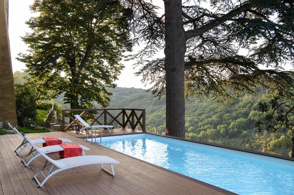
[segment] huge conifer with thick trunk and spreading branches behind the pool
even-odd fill
[[[133,56],[142,65],[137,74],[153,84],[153,94],[166,94],[167,135],[185,136],[190,96],[231,103],[257,85],[289,92],[293,72],[281,67],[294,58],[293,1],[163,0],[162,16],[152,1],[121,2],[130,10],[134,42],[145,44]],[[163,48],[165,58],[148,60]]]

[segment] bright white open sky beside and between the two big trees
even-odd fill
[[[9,40],[10,40],[10,51],[12,60],[13,72],[21,71],[26,69],[24,63],[16,60],[17,54],[20,52],[26,52],[28,49],[27,45],[22,42],[21,36],[24,36],[26,32],[31,32],[28,25],[25,24],[30,17],[34,16],[29,10],[34,0],[11,0],[9,1]],[[163,1],[154,1],[158,6],[163,7]],[[137,69],[133,69],[133,61],[122,61],[126,67],[121,71],[121,75],[116,81],[119,87],[135,87],[135,88],[148,88],[148,85],[144,87],[141,83],[141,76],[135,76]]]

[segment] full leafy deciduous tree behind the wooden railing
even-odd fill
[[[123,65],[119,63],[132,44],[128,38],[126,9],[119,0],[35,0],[31,11],[39,16],[26,24],[32,33],[22,40],[31,82],[40,94],[54,98],[64,93],[72,109],[106,107]]]

